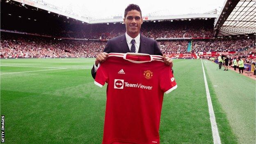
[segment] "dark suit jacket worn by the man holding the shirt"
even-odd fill
[[[126,42],[125,34],[115,37],[107,41],[104,52],[106,53],[130,53],[130,49]],[[146,53],[149,55],[162,55],[161,50],[158,47],[157,41],[144,37],[140,34],[140,44],[138,53]],[[95,79],[96,72],[94,67],[91,69],[91,75]]]

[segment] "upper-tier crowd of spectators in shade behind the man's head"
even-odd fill
[[[170,37],[213,37],[213,21],[160,21],[144,22],[141,27],[141,34],[149,38],[170,38]],[[89,26],[88,26],[89,27]],[[55,36],[86,39],[112,39],[125,33],[126,28],[121,23],[95,24],[89,28],[79,27],[63,31]]]

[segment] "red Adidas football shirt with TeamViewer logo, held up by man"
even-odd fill
[[[107,83],[103,144],[159,144],[164,93],[177,88],[162,56],[109,53],[94,83]]]

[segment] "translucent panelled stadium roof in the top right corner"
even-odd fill
[[[226,0],[215,21],[215,37],[255,33],[255,0]]]

